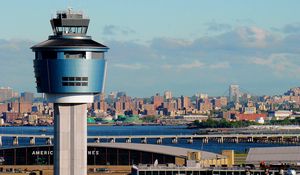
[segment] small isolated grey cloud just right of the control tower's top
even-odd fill
[[[121,27],[117,25],[106,25],[103,28],[102,33],[104,35],[130,35],[135,34],[136,32],[127,27]]]

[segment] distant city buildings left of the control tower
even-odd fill
[[[19,96],[12,88],[0,88],[0,125],[52,125],[53,104],[35,100],[32,92]]]

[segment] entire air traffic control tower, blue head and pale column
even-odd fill
[[[86,35],[72,10],[50,20],[53,35],[33,46],[37,91],[54,103],[54,175],[87,174],[87,103],[103,91],[108,48]]]

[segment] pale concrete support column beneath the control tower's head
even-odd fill
[[[54,175],[87,174],[87,104],[54,104]]]

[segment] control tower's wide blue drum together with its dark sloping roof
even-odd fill
[[[50,36],[32,49],[36,52],[34,73],[38,92],[96,94],[102,91],[106,46],[88,36],[79,39]]]

